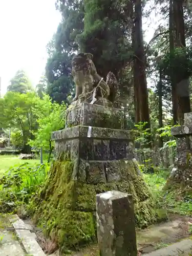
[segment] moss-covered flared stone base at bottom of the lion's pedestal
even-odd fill
[[[139,176],[135,163],[129,161],[129,180],[87,184],[72,179],[73,162],[59,158],[53,163],[45,187],[31,202],[34,219],[60,248],[78,248],[95,241],[96,194],[119,190],[133,195],[136,226],[150,225],[158,218],[153,197]]]

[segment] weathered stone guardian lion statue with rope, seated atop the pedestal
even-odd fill
[[[99,98],[114,102],[118,91],[118,81],[112,72],[107,76],[108,82],[97,73],[91,53],[79,53],[72,59],[72,75],[76,85],[73,101],[82,98],[91,100]],[[95,92],[94,92],[95,91]]]

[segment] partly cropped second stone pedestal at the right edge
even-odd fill
[[[192,187],[192,112],[184,114],[184,125],[172,127],[176,137],[176,161],[166,186]]]

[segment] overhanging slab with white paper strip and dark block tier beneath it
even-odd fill
[[[71,159],[107,161],[133,159],[133,142],[129,131],[76,126],[54,132],[55,152],[66,152]],[[89,136],[88,136],[89,135]]]

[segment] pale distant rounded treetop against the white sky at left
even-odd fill
[[[33,91],[31,82],[23,70],[18,70],[16,72],[15,76],[10,81],[7,91],[15,93],[27,93]]]

